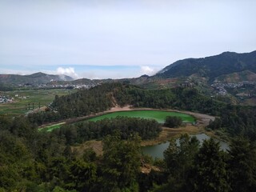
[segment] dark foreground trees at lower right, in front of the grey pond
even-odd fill
[[[198,143],[197,138],[187,134],[179,138],[178,144],[170,142],[164,155],[168,181],[154,186],[152,191],[256,190],[256,151],[248,139],[234,138],[226,152],[213,138],[205,140],[202,146]]]

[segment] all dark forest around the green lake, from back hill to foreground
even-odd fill
[[[38,131],[42,123],[94,114],[116,104],[217,114],[208,129],[232,136],[230,148],[220,150],[213,138],[200,145],[197,138],[183,134],[170,141],[164,159],[151,159],[141,153],[140,143],[157,137],[161,128],[141,118]],[[226,105],[184,88],[106,84],[56,96],[49,111],[15,118],[0,115],[0,191],[255,191],[255,117],[254,107]],[[103,154],[90,148],[76,154],[73,146],[90,139],[102,140]],[[146,164],[158,169],[143,173]]]

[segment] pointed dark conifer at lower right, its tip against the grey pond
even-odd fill
[[[229,191],[226,166],[219,142],[205,140],[195,158],[194,191]]]

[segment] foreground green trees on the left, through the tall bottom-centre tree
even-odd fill
[[[38,132],[26,118],[0,118],[0,191],[113,191],[138,187],[138,134],[123,140],[117,131],[103,139],[102,157],[96,158],[89,149],[78,158],[62,135]]]

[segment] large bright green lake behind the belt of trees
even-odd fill
[[[172,111],[162,110],[129,110],[129,111],[118,111],[110,114],[103,114],[101,116],[90,118],[89,121],[96,122],[104,118],[116,118],[118,116],[129,117],[129,118],[150,118],[157,122],[164,123],[166,116],[176,116],[182,118],[182,122],[195,122],[195,118],[190,114],[182,114]]]

